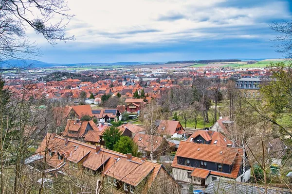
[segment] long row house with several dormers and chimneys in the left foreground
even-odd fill
[[[147,194],[154,190],[157,193],[181,194],[182,186],[162,164],[133,157],[131,153],[122,154],[47,133],[34,157],[36,162],[47,165],[46,172],[66,172],[71,176],[86,172],[84,176],[105,178],[111,185],[110,191]]]

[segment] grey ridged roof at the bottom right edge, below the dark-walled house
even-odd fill
[[[258,187],[255,184],[239,183],[236,181],[213,180],[206,188],[205,194],[264,194],[265,188]],[[288,190],[281,188],[267,189],[267,194],[292,194]]]

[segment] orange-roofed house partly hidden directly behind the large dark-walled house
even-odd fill
[[[213,130],[197,130],[187,140],[197,144],[232,147],[234,143],[220,132]]]

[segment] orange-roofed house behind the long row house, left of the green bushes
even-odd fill
[[[89,131],[99,131],[95,123],[91,121],[68,120],[62,136],[76,140],[84,140]]]

